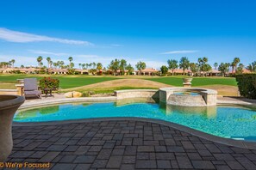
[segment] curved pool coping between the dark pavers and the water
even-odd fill
[[[215,142],[215,143],[222,143],[229,146],[239,147],[242,149],[256,149],[256,143],[253,142],[246,142],[246,141],[238,141],[234,139],[228,139],[223,137],[216,137],[213,135],[210,135],[208,133],[204,133],[203,131],[197,131],[194,129],[191,129],[187,126],[181,125],[181,124],[175,124],[172,122],[166,122],[165,120],[159,120],[159,119],[153,119],[153,118],[85,118],[85,119],[77,119],[77,120],[66,120],[66,121],[52,121],[52,122],[26,122],[26,123],[17,123],[14,122],[14,126],[37,126],[37,125],[52,125],[52,124],[75,124],[75,123],[87,123],[87,122],[93,122],[93,121],[112,121],[112,120],[133,120],[133,121],[145,121],[155,124],[163,124],[169,127],[172,127],[174,129],[177,129],[179,131],[184,131],[186,133],[189,133],[193,136],[202,137],[203,139]]]

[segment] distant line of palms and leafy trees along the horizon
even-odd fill
[[[64,61],[57,61],[53,62],[50,57],[46,58],[47,60],[47,66],[45,66],[42,61],[43,57],[39,56],[36,58],[36,61],[38,63],[38,68],[41,70],[47,70],[47,69],[66,69],[68,70],[68,74],[74,74],[74,66],[75,64],[72,62],[73,58],[69,57],[69,63],[65,64]],[[0,68],[14,68],[16,60],[11,59],[9,62],[0,62]],[[128,74],[131,75],[134,72],[134,67],[131,64],[128,64],[128,62],[125,59],[114,59],[110,62],[110,64],[107,66],[107,69],[103,67],[102,63],[88,63],[88,64],[78,64],[79,69],[81,70],[89,70],[92,74],[100,73],[102,70],[107,71],[111,70],[111,73],[113,75],[124,75]],[[146,69],[147,64],[143,61],[139,61],[137,64],[135,64],[135,67],[137,70],[139,70],[139,73],[141,75],[141,71]],[[24,68],[24,65],[21,65],[21,68]],[[161,74],[165,75],[168,73],[168,70],[171,70],[172,76],[175,73],[175,70],[177,69],[183,70],[183,74],[185,74],[185,70],[190,70],[193,75],[196,76],[206,76],[209,74],[213,68],[215,70],[219,70],[222,75],[225,75],[230,70],[232,70],[233,74],[241,74],[243,70],[246,68],[247,70],[250,70],[252,72],[256,72],[256,61],[253,61],[253,63],[247,65],[247,67],[244,64],[240,63],[240,58],[234,58],[234,60],[230,63],[215,63],[213,64],[213,67],[208,64],[208,58],[198,58],[196,63],[190,62],[189,58],[182,57],[178,61],[177,59],[168,59],[167,60],[167,66],[162,65],[160,68]]]

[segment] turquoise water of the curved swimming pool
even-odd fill
[[[183,124],[219,137],[256,142],[256,112],[243,107],[184,107],[153,103],[116,102],[66,104],[16,112],[16,122],[45,122],[80,118],[139,117]]]

